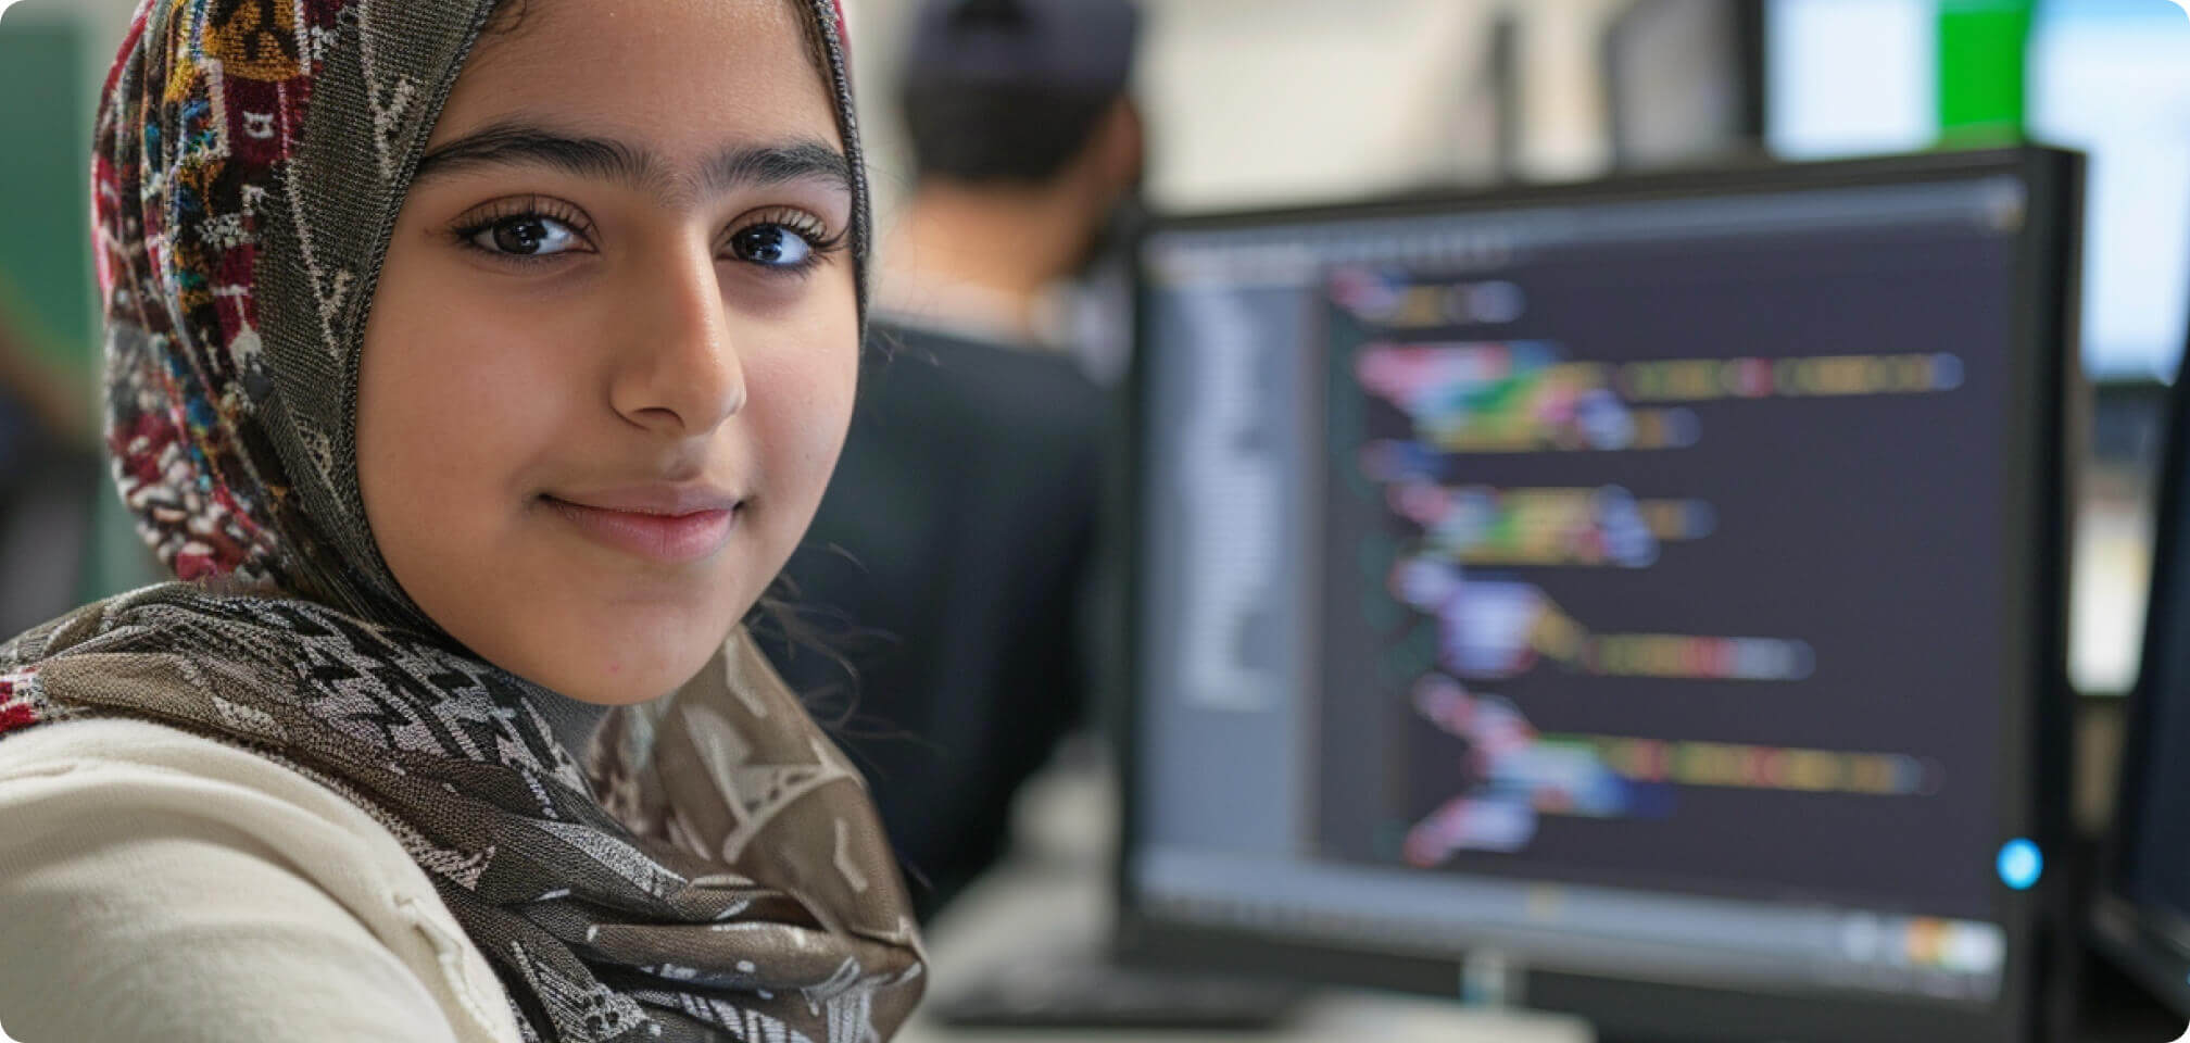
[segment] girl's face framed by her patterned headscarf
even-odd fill
[[[456,640],[589,703],[705,666],[852,416],[852,182],[788,0],[521,0],[396,219],[366,515]]]

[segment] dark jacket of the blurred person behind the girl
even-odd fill
[[[1106,399],[1062,355],[876,337],[843,462],[786,568],[788,607],[819,633],[771,653],[839,721],[926,918],[996,861],[1012,795],[1086,708]]]

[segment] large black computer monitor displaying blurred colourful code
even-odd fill
[[[1121,953],[2039,1039],[2078,191],[2013,149],[1154,228]]]

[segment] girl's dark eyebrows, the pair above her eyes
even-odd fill
[[[819,138],[738,145],[714,153],[699,175],[677,175],[659,156],[615,138],[561,134],[528,123],[497,123],[440,145],[418,160],[412,184],[480,167],[552,167],[576,177],[620,182],[666,199],[817,180],[852,193],[852,162]]]

